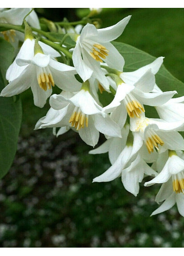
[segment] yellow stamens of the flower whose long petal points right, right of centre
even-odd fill
[[[124,104],[127,109],[127,113],[131,118],[134,116],[140,117],[139,114],[141,114],[141,112],[145,112],[144,107],[131,93],[127,94],[124,98]]]

